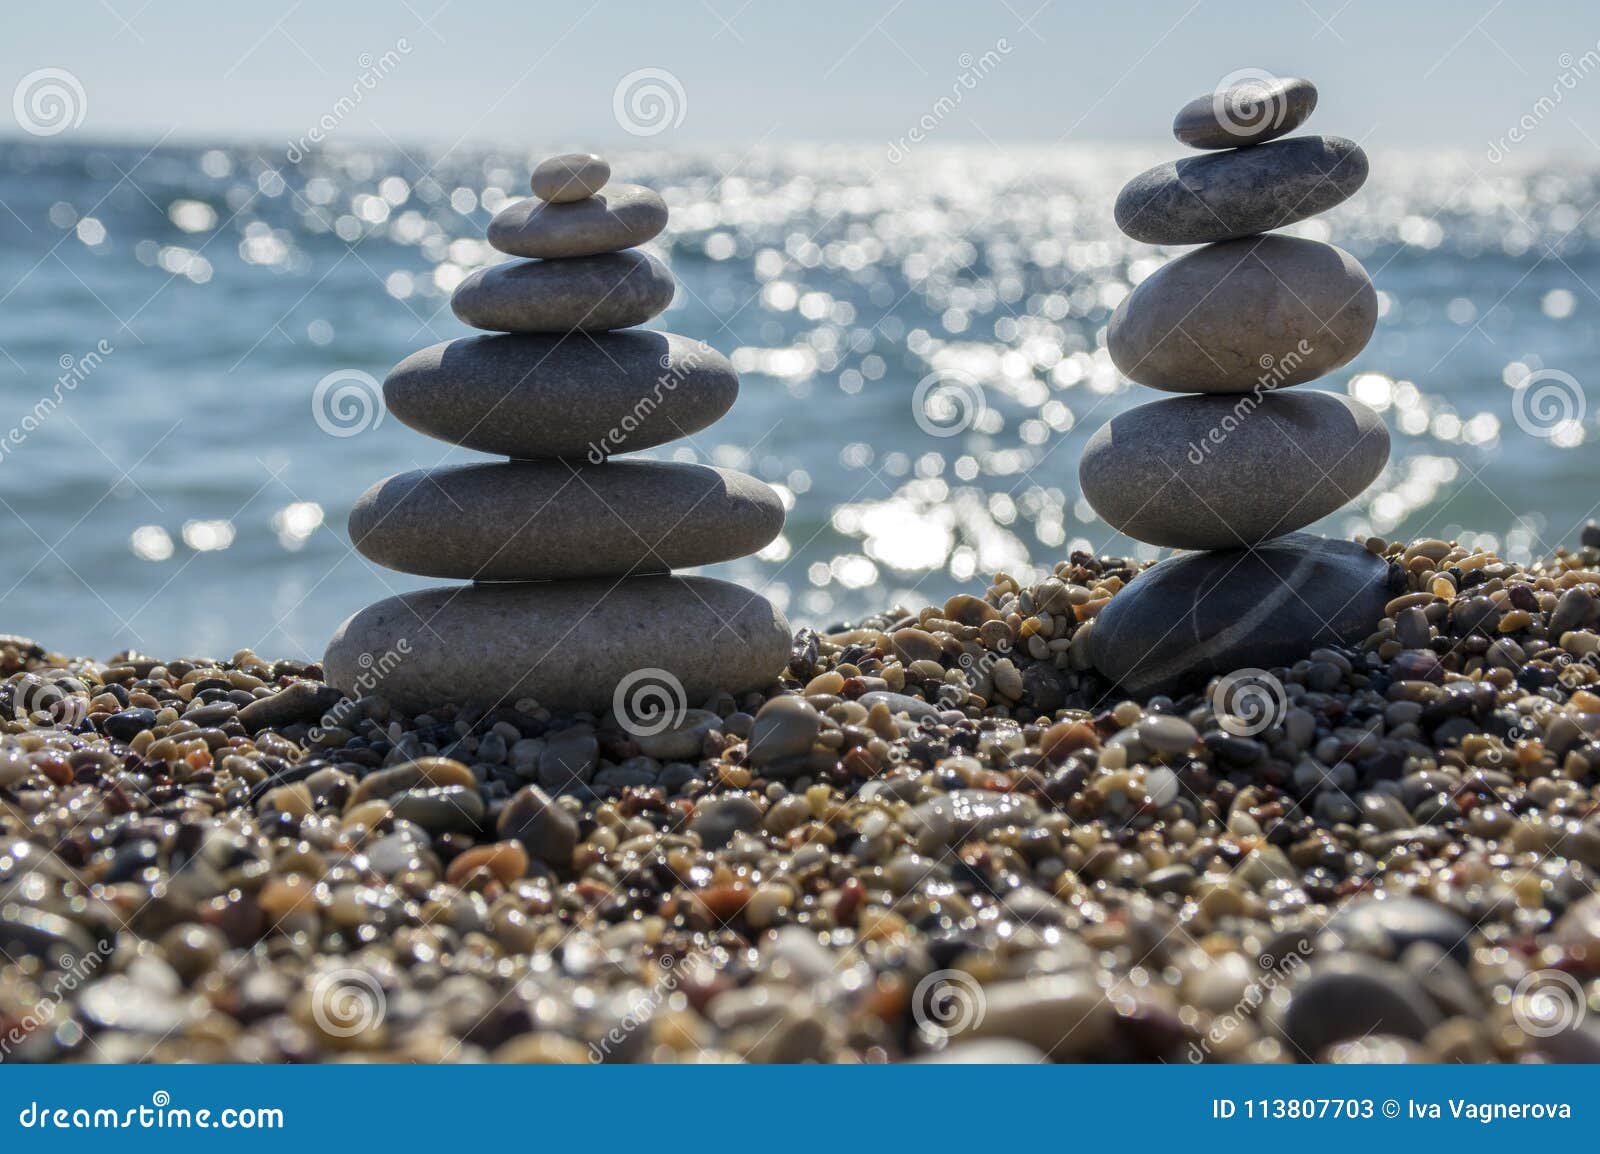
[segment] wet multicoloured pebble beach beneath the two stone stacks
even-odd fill
[[[1366,551],[1142,704],[1146,562],[800,629],[656,722],[0,647],[11,1061],[1594,1061],[1600,528]]]

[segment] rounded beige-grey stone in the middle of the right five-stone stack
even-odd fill
[[[1245,237],[1179,256],[1139,283],[1106,330],[1110,359],[1170,392],[1246,392],[1314,381],[1350,362],[1378,293],[1342,248]]]

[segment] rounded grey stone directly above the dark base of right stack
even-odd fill
[[[1389,429],[1350,397],[1173,397],[1102,424],[1083,447],[1078,483],[1136,541],[1229,549],[1328,515],[1387,461]]]

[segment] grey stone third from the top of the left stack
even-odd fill
[[[496,333],[570,333],[632,328],[672,304],[672,274],[629,248],[570,261],[507,261],[456,286],[450,307],[474,328]]]

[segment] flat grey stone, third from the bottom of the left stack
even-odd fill
[[[738,395],[709,344],[646,331],[469,336],[413,352],[384,381],[389,411],[429,437],[592,463],[699,432]]]

